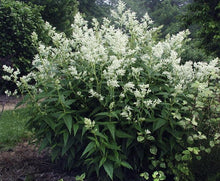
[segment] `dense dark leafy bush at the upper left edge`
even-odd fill
[[[0,5],[0,75],[2,65],[8,64],[19,68],[22,74],[27,74],[31,60],[36,53],[32,44],[33,31],[39,34],[39,39],[46,42],[44,21],[37,6],[30,7],[25,3],[3,0]],[[0,79],[1,92],[11,84]]]

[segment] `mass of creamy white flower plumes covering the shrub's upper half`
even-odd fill
[[[201,94],[208,94],[202,91],[203,88],[208,90],[208,80],[220,78],[219,59],[210,63],[180,64],[178,51],[189,34],[188,30],[168,36],[164,41],[155,41],[153,37],[159,28],[151,28],[152,20],[148,14],[139,22],[135,13],[125,10],[121,1],[112,11],[112,18],[112,21],[105,18],[103,24],[94,19],[94,27],[89,28],[78,13],[70,38],[57,33],[46,23],[53,45],[39,43],[39,53],[33,60],[34,71],[19,79],[19,70],[3,66],[10,74],[3,76],[4,79],[13,80],[19,88],[34,93],[48,90],[49,84],[59,90],[65,85],[65,89],[76,94],[80,92],[80,95],[87,91],[89,97],[96,98],[103,106],[112,102],[114,106],[126,104],[120,107],[121,116],[135,120],[132,116],[136,116],[136,107],[143,112],[143,109],[155,108],[163,101],[157,95],[152,96],[157,84],[154,75],[168,80],[167,87],[175,90],[173,96],[192,86]],[[34,41],[37,38],[33,34]],[[35,82],[34,86],[30,80]],[[75,81],[79,87],[74,86]],[[192,84],[196,81],[197,87]],[[90,122],[85,120],[89,125]]]

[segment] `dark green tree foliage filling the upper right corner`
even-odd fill
[[[219,0],[194,0],[188,6],[185,23],[197,26],[196,37],[210,55],[220,57],[220,2]]]

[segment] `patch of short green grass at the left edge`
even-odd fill
[[[26,129],[27,121],[25,109],[4,111],[0,115],[0,150],[12,148],[22,139],[30,137]]]

